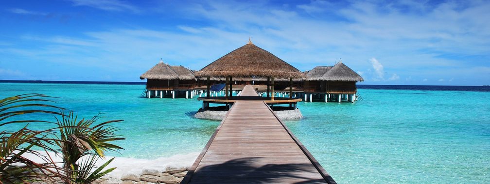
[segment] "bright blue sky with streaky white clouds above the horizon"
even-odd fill
[[[4,0],[0,80],[143,82],[248,39],[301,71],[359,84],[490,85],[490,1]]]

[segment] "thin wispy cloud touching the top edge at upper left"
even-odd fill
[[[75,6],[90,6],[107,11],[130,10],[139,12],[135,6],[120,0],[71,0]]]

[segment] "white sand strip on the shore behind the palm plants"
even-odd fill
[[[47,156],[46,153],[42,154]],[[171,157],[161,157],[154,160],[147,159],[136,159],[136,158],[126,158],[126,157],[106,157],[105,159],[100,159],[97,162],[97,166],[104,164],[109,159],[115,158],[111,164],[107,165],[105,169],[117,167],[115,170],[104,176],[104,178],[111,178],[111,181],[118,181],[121,176],[126,174],[135,174],[139,175],[143,170],[158,170],[165,171],[167,167],[191,167],[194,161],[196,160],[198,152],[189,153],[183,155],[173,155]],[[36,162],[42,163],[44,162],[41,158],[34,154],[25,153],[26,158]],[[53,159],[54,162],[61,162],[62,159],[59,155],[54,154],[53,152],[49,152],[49,156]],[[105,170],[104,169],[104,170]]]

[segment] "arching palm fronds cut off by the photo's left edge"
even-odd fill
[[[31,113],[48,113],[59,114],[58,107],[42,104],[39,102],[51,102],[46,100],[47,96],[40,94],[25,94],[15,97],[9,97],[0,100],[0,127],[10,123],[34,123],[44,122],[37,120],[16,120],[11,118],[31,114]],[[45,108],[48,110],[32,110],[30,108]],[[53,142],[46,137],[52,133],[49,130],[34,131],[24,128],[15,131],[0,132],[0,184],[3,183],[30,183],[32,181],[45,181],[52,183],[56,179],[64,180],[62,169],[56,166],[56,163],[48,156],[31,149],[38,146],[48,151],[54,151],[48,145]],[[35,155],[42,163],[36,163],[25,157],[26,154]]]

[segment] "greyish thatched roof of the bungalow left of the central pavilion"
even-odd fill
[[[163,61],[158,62],[158,64],[156,64],[143,75],[141,75],[140,79],[196,80],[193,71],[187,69],[184,66],[171,66],[165,64]]]

